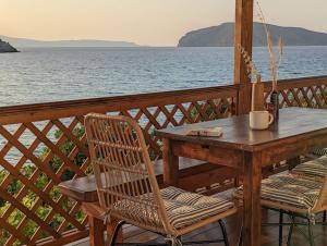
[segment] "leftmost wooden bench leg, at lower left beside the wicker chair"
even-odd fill
[[[88,226],[89,226],[89,245],[90,246],[105,246],[104,221],[88,214]]]

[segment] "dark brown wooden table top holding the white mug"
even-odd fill
[[[222,127],[221,137],[187,136],[191,128]],[[327,134],[327,110],[287,108],[280,110],[278,124],[265,131],[253,131],[249,126],[249,115],[238,115],[196,124],[158,130],[155,132],[161,138],[184,140],[194,144],[214,145],[221,148],[256,151],[282,140],[305,140],[319,134]]]

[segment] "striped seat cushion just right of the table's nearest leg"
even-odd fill
[[[299,209],[311,209],[319,197],[323,183],[292,174],[270,176],[262,182],[262,200],[289,205]],[[243,196],[243,187],[235,190]]]

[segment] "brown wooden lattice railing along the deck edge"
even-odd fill
[[[327,77],[280,82],[281,106],[326,106]],[[266,86],[267,97],[269,85]],[[62,245],[87,235],[80,205],[57,185],[92,173],[84,134],[89,112],[138,121],[152,158],[155,128],[235,114],[238,86],[0,108],[0,245]]]

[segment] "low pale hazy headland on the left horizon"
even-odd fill
[[[129,41],[109,41],[95,39],[78,39],[78,40],[58,40],[44,41],[27,38],[13,38],[1,36],[5,40],[17,48],[61,48],[61,47],[138,47],[138,45]]]

